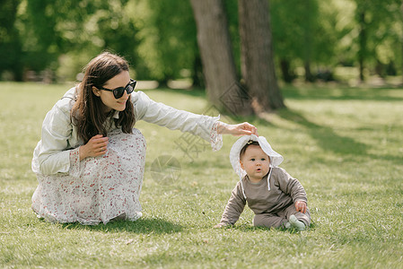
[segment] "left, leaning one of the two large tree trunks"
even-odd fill
[[[222,0],[191,0],[207,98],[220,111],[250,115],[250,100],[239,93],[228,22]],[[241,100],[241,102],[240,102]]]

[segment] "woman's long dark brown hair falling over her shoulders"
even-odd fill
[[[103,52],[96,56],[85,66],[83,81],[78,86],[77,100],[73,106],[71,117],[77,126],[78,137],[87,143],[96,134],[107,135],[106,120],[115,113],[112,109],[109,114],[103,111],[101,98],[92,92],[92,86],[102,87],[111,78],[123,71],[128,72],[127,61],[110,52]],[[126,102],[126,108],[119,112],[119,117],[110,117],[115,120],[115,126],[121,127],[123,133],[132,134],[136,118],[130,97]]]

